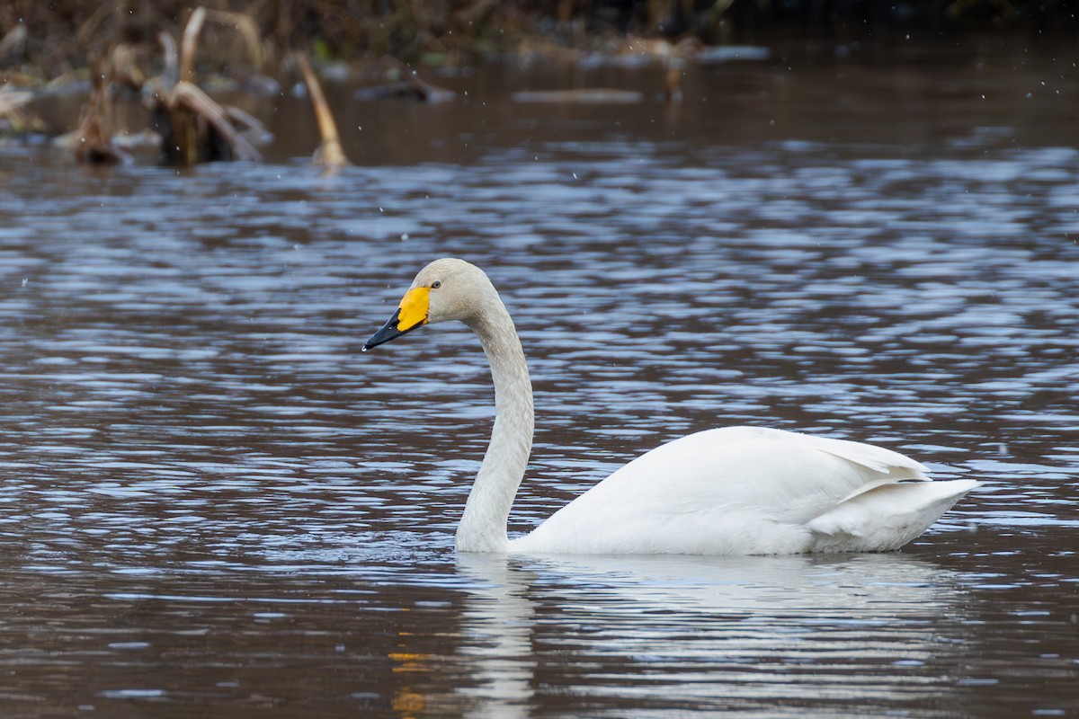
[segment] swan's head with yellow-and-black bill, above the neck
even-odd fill
[[[497,292],[482,269],[455,258],[435,260],[420,271],[397,312],[364,345],[364,351],[424,324],[461,320],[473,326]]]

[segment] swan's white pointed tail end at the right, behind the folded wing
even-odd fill
[[[861,490],[807,523],[816,552],[887,552],[930,527],[973,480],[889,482]]]

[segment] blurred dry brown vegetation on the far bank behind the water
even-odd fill
[[[0,72],[54,78],[90,66],[117,42],[153,47],[178,37],[196,3],[181,0],[5,0]],[[491,56],[537,44],[602,47],[626,34],[694,36],[705,43],[806,36],[855,40],[969,30],[1075,33],[1079,0],[206,0],[249,15],[264,68],[289,50],[316,61],[394,55],[405,61]],[[203,61],[243,47],[231,28],[206,28]],[[216,34],[215,34],[216,33]],[[149,51],[148,51],[149,52]]]

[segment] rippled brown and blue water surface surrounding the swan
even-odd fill
[[[0,150],[0,714],[1079,716],[1079,53],[838,55],[331,86],[332,179],[291,97],[263,164]],[[448,254],[536,385],[513,531],[733,424],[984,486],[885,555],[455,556],[478,344],[359,354]]]

